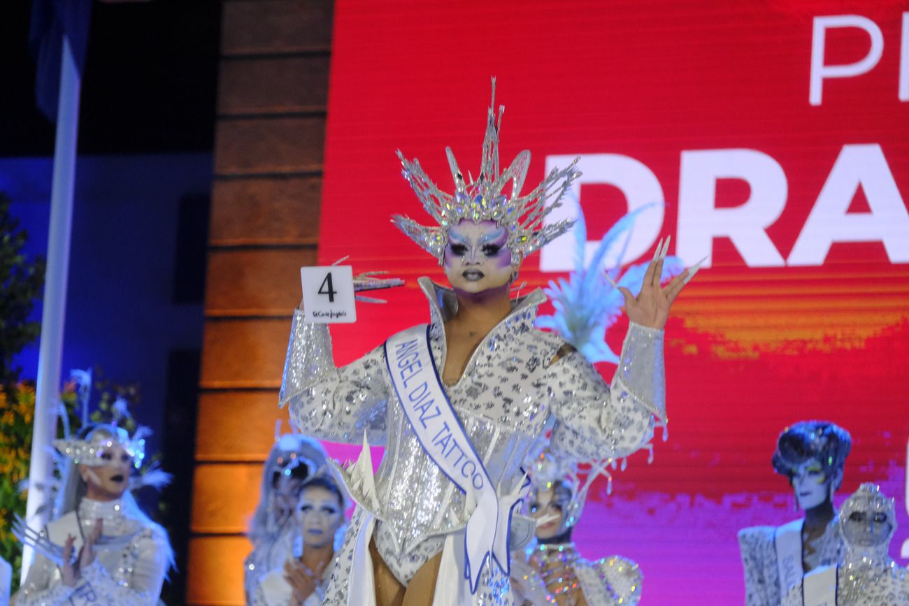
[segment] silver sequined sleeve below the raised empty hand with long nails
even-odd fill
[[[665,416],[663,331],[632,323],[608,386],[579,352],[550,368],[551,448],[576,460],[623,457],[648,442]]]

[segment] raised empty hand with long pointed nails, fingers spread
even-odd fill
[[[662,329],[666,319],[669,317],[669,308],[675,301],[675,297],[682,292],[684,285],[694,278],[694,274],[701,268],[701,263],[704,263],[705,259],[702,259],[675,276],[665,287],[661,287],[660,277],[663,275],[663,260],[669,251],[671,238],[672,236],[669,236],[666,238],[665,243],[660,240],[656,244],[654,260],[647,266],[647,272],[644,273],[644,283],[641,285],[641,292],[636,297],[624,286],[618,286],[613,283],[624,297],[625,313],[628,314],[628,319],[634,323]]]

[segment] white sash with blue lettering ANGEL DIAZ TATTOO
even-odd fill
[[[449,480],[476,503],[464,529],[464,578],[476,593],[486,560],[510,574],[508,541],[517,494],[500,498],[483,459],[445,394],[429,346],[429,326],[397,333],[385,343],[385,362],[417,440]],[[491,564],[490,564],[491,565]]]

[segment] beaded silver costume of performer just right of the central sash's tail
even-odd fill
[[[644,575],[634,561],[617,555],[587,561],[574,543],[532,545],[524,555],[512,564],[518,606],[635,606],[641,600]]]

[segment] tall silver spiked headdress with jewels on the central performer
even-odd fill
[[[495,107],[495,78],[493,78],[493,100],[486,116],[486,134],[483,140],[483,158],[480,173],[464,174],[454,159],[451,147],[445,148],[448,167],[454,178],[454,194],[439,189],[432,179],[423,172],[420,162],[407,160],[398,150],[403,166],[404,178],[413,188],[416,197],[423,203],[426,213],[435,219],[438,226],[416,223],[410,217],[395,214],[392,218],[398,229],[432,254],[442,264],[448,230],[463,219],[475,222],[494,221],[508,232],[508,247],[515,255],[525,257],[539,250],[567,232],[574,220],[564,219],[544,225],[546,214],[559,205],[559,200],[580,176],[575,160],[567,168],[553,169],[546,178],[529,194],[521,195],[527,169],[530,167],[530,152],[524,150],[503,173],[499,173],[499,130],[502,128],[504,105],[499,106],[498,117]],[[506,186],[511,183],[511,190]]]

